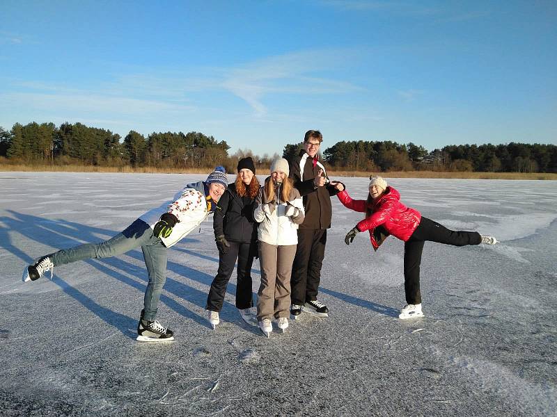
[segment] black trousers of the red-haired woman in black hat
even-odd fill
[[[234,271],[236,259],[238,260],[236,307],[243,310],[253,306],[251,300],[251,265],[253,263],[253,254],[257,250],[257,243],[228,243],[230,243],[230,247],[226,248],[226,254],[219,252],[219,270],[217,271],[217,276],[213,279],[209,295],[207,295],[207,306],[205,306],[207,310],[221,311],[226,286]]]

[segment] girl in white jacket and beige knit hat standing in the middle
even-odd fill
[[[278,158],[271,165],[253,211],[259,223],[259,263],[261,285],[258,291],[257,318],[261,331],[269,337],[272,318],[279,329],[288,327],[290,316],[290,275],[298,243],[298,224],[304,221],[300,193],[288,178],[288,161]]]

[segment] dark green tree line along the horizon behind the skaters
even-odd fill
[[[302,142],[285,145],[283,157],[297,154]],[[29,165],[100,165],[206,169],[224,165],[235,170],[238,158],[252,156],[258,167],[269,167],[278,156],[253,155],[199,132],[136,131],[121,138],[106,129],[68,122],[16,123],[0,126],[0,158]],[[477,172],[557,172],[557,146],[510,142],[505,145],[448,145],[428,152],[423,146],[385,141],[340,141],[322,149],[325,163],[335,170],[387,172],[408,170]]]

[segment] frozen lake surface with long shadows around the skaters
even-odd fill
[[[235,277],[221,325],[204,318],[218,265],[212,221],[169,251],[158,319],[174,343],[135,341],[147,279],[139,249],[21,282],[34,258],[110,238],[205,177],[0,172],[0,414],[556,415],[556,181],[390,180],[426,217],[501,240],[426,243],[416,320],[395,318],[403,243],[373,253],[366,233],[347,247],[362,214],[336,197],[320,293],[330,316],[304,313],[269,339],[237,313]],[[366,198],[367,179],[340,180]]]

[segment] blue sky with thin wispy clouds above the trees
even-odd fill
[[[0,126],[557,143],[556,1],[2,1]]]

